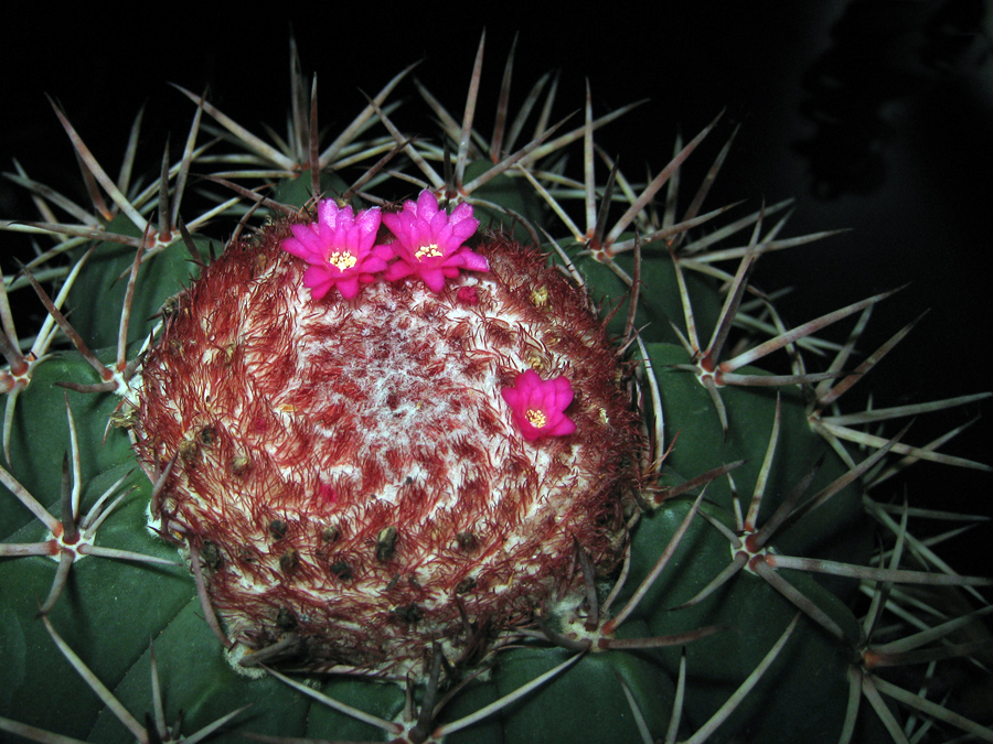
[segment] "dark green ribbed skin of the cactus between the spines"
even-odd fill
[[[485,172],[488,163],[470,165],[465,181]],[[345,188],[337,177],[322,185]],[[276,198],[301,205],[310,197],[307,174],[282,183]],[[476,197],[488,200],[541,224],[544,205],[521,179],[500,176]],[[505,214],[480,207],[477,215],[493,227],[527,233]],[[135,235],[118,218],[110,229]],[[197,238],[204,258],[207,241]],[[79,257],[88,247],[77,248]],[[215,246],[216,248],[216,246]],[[545,248],[549,254],[554,251]],[[624,327],[628,287],[606,266],[572,250],[576,268],[590,295],[606,313],[620,303],[610,330]],[[728,431],[722,430],[711,396],[695,375],[674,365],[691,362],[679,345],[671,324],[684,330],[683,305],[672,258],[661,244],[642,248],[643,263],[634,326],[645,343],[647,362],[660,390],[666,446],[672,449],[661,468],[661,486],[676,486],[706,471],[744,461],[732,473],[747,510],[766,457],[777,409],[781,423],[771,474],[758,517],[761,526],[776,507],[823,461],[804,498],[842,476],[846,466],[808,421],[808,402],[799,386],[725,387]],[[175,242],[143,263],[138,277],[129,344],[137,348],[157,323],[154,315],[167,299],[189,285],[196,268],[188,250]],[[100,244],[89,257],[70,295],[71,321],[93,348],[105,349],[105,363],[114,358],[106,348],[117,343],[120,306],[134,249]],[[558,259],[556,259],[558,260]],[[618,258],[631,274],[632,258]],[[717,322],[723,294],[716,280],[687,272],[686,283],[701,336],[707,338]],[[637,346],[633,347],[637,355]],[[759,369],[738,373],[762,374]],[[62,597],[49,618],[83,662],[139,721],[152,709],[150,644],[154,646],[167,719],[183,711],[183,731],[190,734],[243,705],[249,708],[229,727],[282,736],[317,740],[383,741],[380,729],[331,710],[291,690],[273,677],[249,679],[233,671],[216,638],[202,618],[186,559],[147,527],[151,486],[137,463],[122,429],[107,429],[118,399],[113,395],[66,392],[58,381],[92,384],[93,368],[76,352],[60,352],[34,371],[30,387],[20,393],[13,420],[10,472],[51,514],[58,517],[61,471],[70,449],[66,400],[72,406],[79,436],[83,465],[83,508],[86,514],[100,493],[128,474],[132,490],[98,531],[98,544],[135,550],[170,559],[172,567],[86,557],[72,569]],[[644,390],[648,389],[643,385]],[[645,392],[645,396],[648,393]],[[647,403],[650,414],[650,402]],[[651,422],[650,422],[651,423]],[[854,452],[854,450],[853,450]],[[856,454],[859,460],[862,455]],[[634,594],[666,548],[693,502],[693,494],[665,502],[644,514],[631,542],[627,583],[611,612],[617,613]],[[647,493],[648,500],[652,494]],[[733,494],[727,477],[707,486],[702,506],[712,519],[735,528]],[[7,543],[46,539],[44,528],[6,489],[0,487],[0,540]],[[858,482],[825,505],[778,532],[772,549],[866,564],[875,548],[873,530],[863,511]],[[576,665],[524,699],[485,720],[452,734],[449,742],[558,744],[566,742],[639,742],[638,715],[650,737],[661,740],[669,726],[675,699],[681,656],[688,668],[687,693],[680,735],[703,726],[734,690],[752,672],[798,613],[797,607],[766,581],[741,571],[706,600],[677,608],[708,584],[733,560],[728,539],[697,516],[671,562],[642,601],[620,626],[618,637],[644,638],[691,632],[706,626],[724,630],[696,643],[662,649],[589,653]],[[41,726],[93,742],[128,742],[132,736],[74,671],[36,619],[56,562],[41,557],[0,560],[0,716]],[[719,727],[712,742],[835,742],[845,718],[847,673],[857,659],[861,625],[850,610],[857,581],[810,575],[783,570],[780,575],[825,612],[844,633],[832,637],[807,616],[799,624],[772,667],[755,690]],[[610,582],[600,586],[602,600]],[[562,627],[564,618],[549,618]],[[509,694],[554,668],[570,654],[547,644],[522,640],[501,650],[493,668],[469,683],[447,705],[438,722],[455,721]],[[314,679],[314,689],[386,720],[404,710],[403,689],[394,683],[349,677]],[[631,692],[631,701],[624,694]],[[423,692],[418,692],[418,696]],[[418,698],[419,700],[419,698]],[[863,715],[856,740],[884,741],[872,713]],[[243,741],[226,733],[217,741]]]

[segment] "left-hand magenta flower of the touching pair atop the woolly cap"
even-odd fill
[[[303,285],[314,300],[332,287],[351,300],[359,293],[360,282],[367,284],[373,274],[384,271],[393,258],[393,249],[377,246],[380,209],[363,209],[357,216],[352,207],[339,208],[334,200],[318,204],[318,220],[292,225],[293,237],[282,241],[282,249],[302,258],[310,266],[303,272]]]

